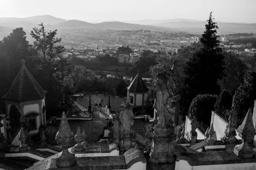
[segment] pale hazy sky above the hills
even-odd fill
[[[52,15],[71,20],[207,20],[256,23],[256,0],[0,0],[0,17]]]

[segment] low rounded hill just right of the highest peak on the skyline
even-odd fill
[[[95,24],[80,20],[69,20],[63,23],[55,24],[57,28],[99,28]]]

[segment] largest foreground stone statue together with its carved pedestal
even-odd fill
[[[169,164],[166,169],[173,169],[175,157],[172,151],[172,145],[177,145],[172,111],[180,95],[177,94],[177,84],[175,82],[175,67],[164,65],[164,71],[157,74],[155,79],[156,100],[154,108],[157,111],[152,130],[152,145],[149,154],[150,159],[147,166],[154,169],[161,169],[161,163]],[[158,167],[159,166],[159,167]],[[151,168],[153,169],[153,168]]]

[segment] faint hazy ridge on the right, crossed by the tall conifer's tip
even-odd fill
[[[217,22],[217,21],[216,21]],[[174,31],[186,31],[191,33],[203,33],[205,30],[206,22],[188,22],[188,21],[180,21],[180,22],[167,22],[167,23],[159,23],[154,24],[154,26],[162,26],[171,28]],[[230,33],[256,33],[256,23],[248,24],[248,23],[223,23],[217,22],[219,27],[218,34],[230,34]]]

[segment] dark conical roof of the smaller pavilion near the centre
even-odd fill
[[[140,71],[138,71],[137,76],[129,85],[128,91],[137,92],[137,93],[148,91],[147,86],[143,82],[143,79],[140,77]]]

